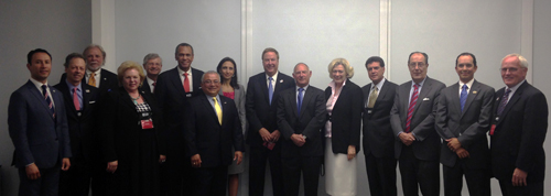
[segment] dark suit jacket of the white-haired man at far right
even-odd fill
[[[494,115],[505,94],[497,90]],[[528,173],[527,183],[543,182],[545,153],[543,141],[548,130],[548,104],[545,96],[525,81],[511,96],[496,124],[491,144],[491,168],[499,181],[510,181],[516,167]]]

